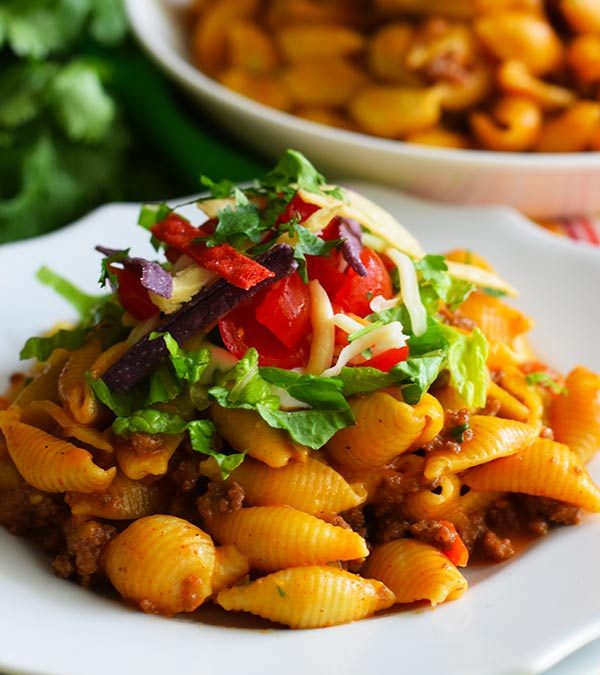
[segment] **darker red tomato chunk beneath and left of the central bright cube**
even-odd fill
[[[310,348],[307,338],[292,349],[286,347],[256,320],[255,302],[244,303],[229,312],[219,321],[219,331],[227,349],[238,359],[250,347],[254,347],[258,351],[261,366],[298,368],[308,361]]]

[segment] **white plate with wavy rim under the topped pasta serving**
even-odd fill
[[[448,208],[359,186],[430,251],[467,246],[522,290],[549,363],[600,370],[600,253],[554,238],[507,209]],[[148,252],[135,205],[101,208],[75,225],[0,248],[0,376],[28,336],[70,318],[35,282],[47,264],[93,290],[97,243]],[[600,478],[600,463],[592,465]],[[225,675],[526,675],[600,636],[600,518],[552,532],[508,563],[468,572],[471,588],[434,610],[313,631],[224,628],[146,616],[55,579],[49,562],[0,532],[0,669],[52,675],[167,672]],[[590,672],[590,671],[587,671]]]

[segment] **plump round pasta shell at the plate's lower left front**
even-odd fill
[[[113,539],[104,569],[117,591],[145,612],[193,612],[211,593],[215,547],[187,520],[148,516]]]

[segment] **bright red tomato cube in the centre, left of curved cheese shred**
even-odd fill
[[[288,349],[306,339],[310,330],[310,293],[297,273],[269,286],[256,308],[256,320]]]

